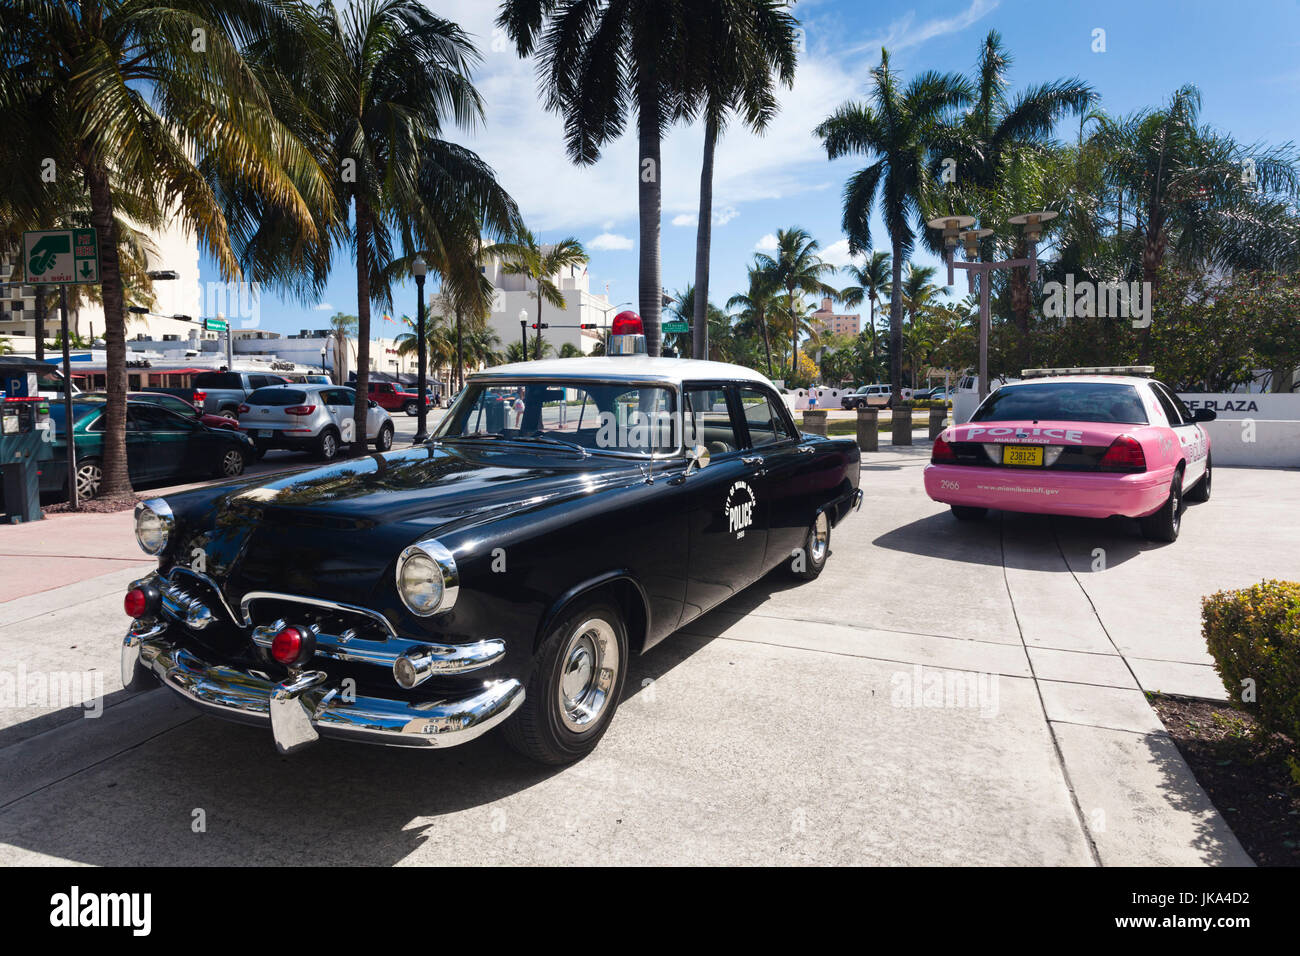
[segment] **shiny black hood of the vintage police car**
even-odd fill
[[[563,451],[420,446],[169,497],[173,558],[198,558],[228,597],[278,591],[367,604],[420,537],[641,480],[634,463]]]

